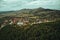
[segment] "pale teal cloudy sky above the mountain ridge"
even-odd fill
[[[60,10],[60,0],[0,0],[0,11],[39,7]]]

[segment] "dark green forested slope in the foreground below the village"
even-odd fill
[[[60,21],[28,26],[6,25],[0,30],[0,40],[59,40]]]

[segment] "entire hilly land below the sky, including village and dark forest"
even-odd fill
[[[60,10],[36,8],[0,12],[0,40],[59,40]]]

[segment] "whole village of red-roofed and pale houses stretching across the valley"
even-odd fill
[[[33,19],[34,22],[30,22],[32,21],[31,19]],[[47,19],[39,19],[38,17],[8,17],[8,19],[5,19],[2,23],[2,25],[6,25],[6,24],[17,24],[19,26],[25,26],[28,24],[38,24],[38,23],[43,23],[43,22],[50,22]]]

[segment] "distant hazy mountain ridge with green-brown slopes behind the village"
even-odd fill
[[[42,18],[60,18],[60,10],[36,8],[36,9],[22,9],[18,11],[0,12],[0,16],[22,16],[24,14],[32,14]]]

